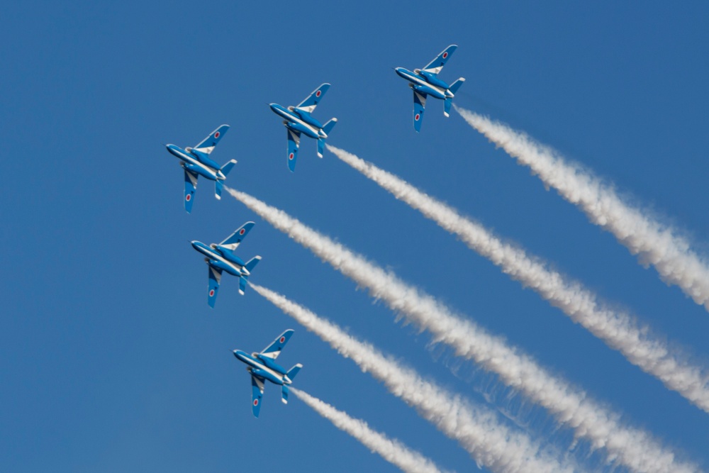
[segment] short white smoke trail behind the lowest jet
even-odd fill
[[[291,388],[291,393],[298,396],[304,403],[311,406],[320,416],[328,419],[335,427],[359,440],[362,445],[375,452],[387,462],[396,465],[404,472],[408,473],[442,473],[432,460],[421,455],[415,450],[411,450],[396,439],[391,439],[369,428],[366,422],[352,418],[347,413],[338,411],[330,404],[320,399],[314,398],[310,394]]]

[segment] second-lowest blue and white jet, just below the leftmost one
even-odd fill
[[[239,294],[244,294],[247,278],[261,260],[261,257],[255,256],[247,262],[243,262],[240,257],[234,254],[234,250],[236,250],[236,247],[239,246],[239,243],[241,243],[254,225],[255,223],[253,222],[244,223],[234,233],[229,235],[226,240],[219,244],[212,243],[211,245],[205,245],[197,240],[190,242],[195,250],[206,256],[204,261],[209,267],[207,301],[211,308],[214,308],[214,303],[217,300],[219,283],[223,271],[239,278]]]

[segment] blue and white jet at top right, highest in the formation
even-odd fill
[[[437,55],[434,60],[428,63],[423,69],[413,69],[413,72],[405,67],[395,67],[396,74],[399,74],[410,84],[413,89],[413,128],[418,132],[421,130],[423,121],[423,110],[426,106],[426,97],[432,96],[443,101],[443,114],[450,115],[450,106],[453,104],[453,96],[458,88],[465,82],[464,77],[460,77],[453,84],[448,85],[438,78],[441,69],[458,48],[457,45],[450,45]]]

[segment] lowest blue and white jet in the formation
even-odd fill
[[[251,374],[251,408],[254,417],[258,417],[259,411],[261,411],[261,398],[264,395],[264,382],[267,379],[273,384],[281,385],[281,400],[283,404],[288,404],[288,386],[293,382],[303,365],[298,363],[286,371],[284,367],[276,364],[276,358],[290,340],[291,335],[293,335],[293,330],[286,330],[260,353],[253,352],[249,355],[247,352],[234,350],[234,356],[247,365],[246,371]]]

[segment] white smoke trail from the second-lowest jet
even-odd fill
[[[340,355],[351,358],[363,372],[384,383],[391,394],[413,406],[420,416],[447,437],[457,440],[479,465],[494,472],[573,472],[573,468],[562,466],[523,433],[498,423],[492,411],[472,406],[460,396],[448,394],[440,386],[420,377],[413,369],[382,354],[369,343],[347,335],[334,323],[316,316],[285,296],[255,284],[251,286],[329,343]]]

